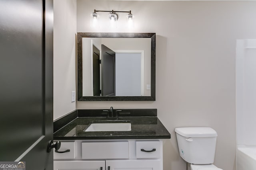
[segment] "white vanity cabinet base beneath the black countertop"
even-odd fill
[[[162,140],[61,141],[54,170],[163,170]]]

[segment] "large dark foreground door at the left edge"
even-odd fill
[[[0,161],[52,170],[53,2],[0,0]]]

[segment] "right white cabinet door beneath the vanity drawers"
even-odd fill
[[[162,170],[161,160],[106,160],[106,170]]]

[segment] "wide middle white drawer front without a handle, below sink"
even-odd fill
[[[82,159],[128,159],[128,141],[83,142]]]

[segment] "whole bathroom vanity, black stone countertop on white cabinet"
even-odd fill
[[[54,140],[61,142],[54,150],[54,170],[163,169],[163,140],[170,133],[156,109],[122,109],[114,120],[107,115],[102,109],[76,110],[54,122]],[[108,121],[130,123],[131,129],[86,131]]]

